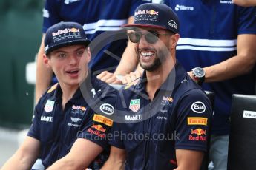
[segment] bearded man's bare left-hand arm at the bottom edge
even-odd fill
[[[102,166],[101,170],[120,170],[125,169],[125,149],[119,149],[115,146],[111,146],[111,154],[108,157],[108,160]]]

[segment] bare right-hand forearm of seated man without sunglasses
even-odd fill
[[[81,152],[85,151],[85,152]],[[53,169],[85,169],[103,151],[103,148],[87,139],[77,139],[70,152],[62,159],[53,163],[48,170]]]

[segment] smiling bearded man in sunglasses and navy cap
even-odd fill
[[[123,27],[145,71],[119,92],[102,169],[200,169],[211,104],[176,60],[176,13],[165,4],[142,4],[134,24]]]

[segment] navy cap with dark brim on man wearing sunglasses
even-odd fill
[[[177,14],[166,4],[146,3],[136,8],[134,24],[122,27],[155,27],[179,33],[180,23]]]

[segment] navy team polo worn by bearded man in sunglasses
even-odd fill
[[[176,64],[150,101],[145,72],[116,100],[112,146],[125,149],[125,169],[175,169],[175,149],[206,152],[211,104],[203,89]]]

